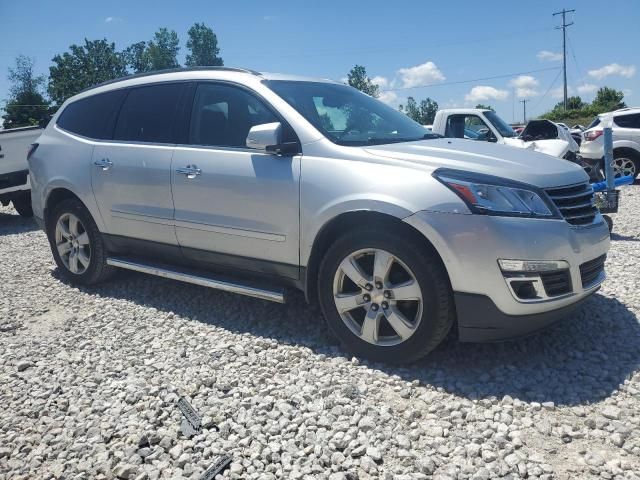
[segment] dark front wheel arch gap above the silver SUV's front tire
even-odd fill
[[[348,231],[356,230],[363,226],[371,225],[387,225],[389,228],[393,228],[395,232],[400,235],[408,235],[414,238],[418,243],[424,246],[426,252],[434,255],[442,265],[445,272],[447,269],[444,265],[441,255],[431,243],[420,231],[415,227],[403,222],[402,219],[388,214],[371,210],[353,210],[341,213],[331,220],[326,222],[316,235],[313,246],[311,248],[311,254],[304,270],[304,292],[307,302],[316,304],[318,300],[318,272],[320,269],[320,263],[324,257],[324,253],[332,245],[332,243],[338,239],[341,235]]]

